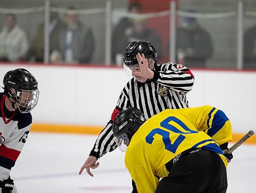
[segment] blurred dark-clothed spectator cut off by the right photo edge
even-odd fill
[[[244,68],[256,68],[256,26],[244,33]]]

